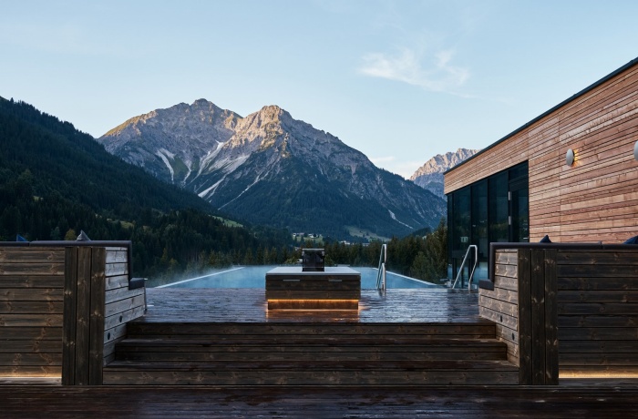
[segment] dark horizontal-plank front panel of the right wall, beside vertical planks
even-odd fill
[[[638,250],[561,250],[561,377],[638,376]]]

